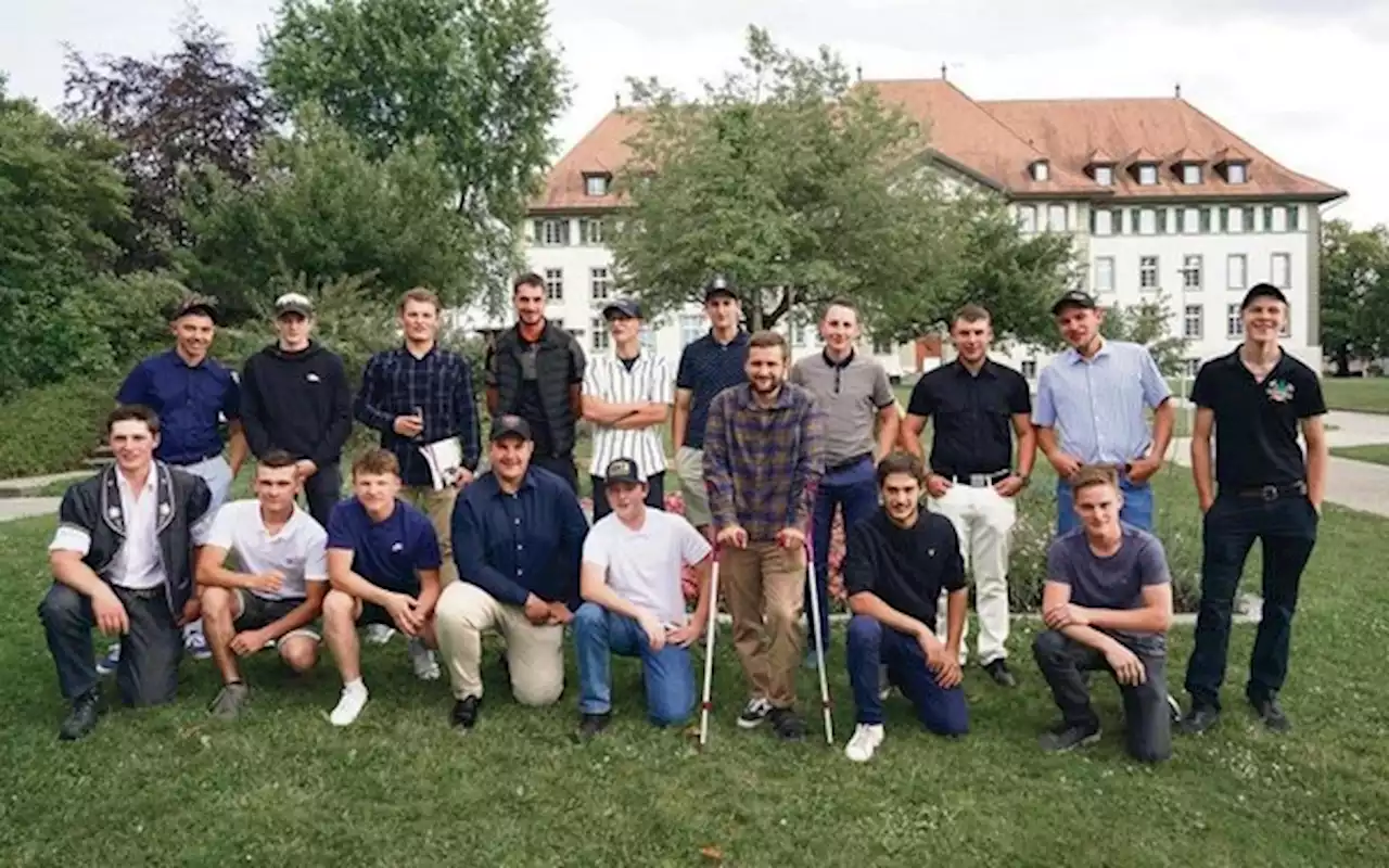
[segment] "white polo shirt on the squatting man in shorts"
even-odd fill
[[[306,582],[328,581],[328,532],[299,506],[279,533],[271,536],[261,521],[260,501],[224,504],[207,544],[235,554],[242,572],[281,571],[285,581],[279,590],[251,592],[265,600],[303,600],[308,596]]]

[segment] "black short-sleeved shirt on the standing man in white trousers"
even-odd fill
[[[1007,365],[986,358],[975,375],[953,361],[917,381],[907,412],[933,419],[932,471],[992,474],[1013,467],[1013,415],[1032,412],[1032,394]]]

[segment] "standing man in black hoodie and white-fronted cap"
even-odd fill
[[[275,300],[278,340],[246,360],[242,419],[251,453],[283,450],[296,461],[308,514],[328,526],[342,496],[338,461],[351,435],[351,389],[343,360],[311,337],[314,304],[300,293]]]

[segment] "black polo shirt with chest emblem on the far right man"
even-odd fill
[[[1196,374],[1192,403],[1215,411],[1215,481],[1250,489],[1307,479],[1297,424],[1326,412],[1317,374],[1288,353],[1263,381],[1239,360],[1213,358]]]

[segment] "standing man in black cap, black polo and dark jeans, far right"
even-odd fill
[[[1186,667],[1192,707],[1182,731],[1200,733],[1220,719],[1220,687],[1229,650],[1231,610],[1245,558],[1264,553],[1264,611],[1254,637],[1245,696],[1265,726],[1290,728],[1278,704],[1288,675],[1293,611],[1303,568],[1317,543],[1326,481],[1326,412],[1317,374],[1278,346],[1288,299],[1268,283],[1240,304],[1245,342],[1201,365],[1192,387],[1192,478],[1203,522],[1201,606],[1196,649]],[[1215,482],[1211,485],[1211,429]],[[1301,431],[1307,456],[1297,444]]]

